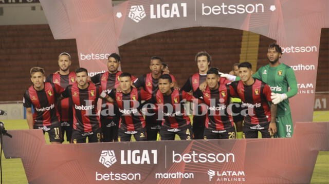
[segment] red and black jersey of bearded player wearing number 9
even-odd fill
[[[73,128],[80,132],[92,132],[101,127],[97,115],[97,100],[103,92],[100,86],[88,83],[86,89],[80,89],[77,83],[66,87],[62,93],[73,103]]]

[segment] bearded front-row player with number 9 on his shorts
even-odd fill
[[[100,142],[101,122],[97,115],[97,100],[108,95],[100,86],[88,82],[88,71],[84,68],[76,70],[76,83],[66,87],[61,98],[70,98],[73,103],[72,143]]]

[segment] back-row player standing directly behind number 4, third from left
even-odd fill
[[[153,94],[158,90],[159,77],[162,74],[162,67],[162,59],[160,57],[151,57],[150,70],[152,72],[138,77],[138,79],[134,81],[133,86],[136,88],[142,87],[148,93]],[[171,74],[169,75],[172,77],[173,86],[178,87],[175,77]],[[158,116],[156,112],[156,110],[148,109],[148,114],[154,115],[147,114],[145,116],[148,140],[156,140],[157,134],[160,131],[161,121],[157,120]]]

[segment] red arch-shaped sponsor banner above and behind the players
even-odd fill
[[[298,71],[298,83],[315,83],[320,30],[329,26],[323,21],[329,12],[327,0],[132,0],[114,7],[111,0],[40,2],[54,38],[77,40],[80,67],[87,68],[90,76],[106,70],[108,54],[132,40],[161,31],[207,26],[251,31],[276,40],[284,52],[280,61]],[[315,85],[299,88],[291,98],[294,122],[312,121],[314,89]]]

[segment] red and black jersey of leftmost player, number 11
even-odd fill
[[[44,89],[36,91],[33,86],[25,91],[23,105],[31,108],[33,105],[33,125],[51,126],[59,123],[56,100],[64,89],[58,85],[44,83]]]

